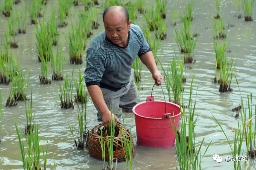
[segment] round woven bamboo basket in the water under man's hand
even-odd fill
[[[101,146],[100,146],[100,127],[103,124],[99,124],[92,128],[92,130],[89,132],[88,135],[88,141],[87,141],[87,146],[89,153],[92,157],[102,159],[102,152],[101,152]],[[125,154],[124,154],[124,148],[122,145],[123,141],[123,135],[122,131],[125,131],[126,137],[128,139],[131,139],[132,141],[132,158],[135,155],[135,147],[133,144],[132,140],[132,135],[130,134],[129,130],[125,128],[121,124],[116,124],[116,129],[115,129],[115,137],[114,137],[114,146],[113,146],[113,158],[117,158],[117,161],[125,161]],[[104,132],[104,129],[102,130],[102,133]],[[103,135],[103,144],[105,143],[105,160],[108,160],[108,147],[107,147],[107,140],[109,136],[104,136]]]

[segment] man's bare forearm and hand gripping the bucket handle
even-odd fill
[[[152,78],[155,80],[155,84],[157,86],[161,84],[163,82],[163,76],[159,73],[157,69],[156,61],[152,51],[148,51],[147,53],[141,55],[140,60],[143,64],[145,64],[148,67],[148,70],[152,74]]]

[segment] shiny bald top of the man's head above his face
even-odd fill
[[[110,6],[106,8],[105,11],[103,12],[103,23],[104,23],[104,17],[107,13],[111,16],[120,16],[127,21],[127,24],[129,23],[128,10],[122,6]]]

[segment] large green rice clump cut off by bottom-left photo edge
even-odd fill
[[[34,124],[34,133],[30,131],[30,134],[26,138],[27,143],[27,153],[25,152],[24,142],[21,138],[20,132],[18,130],[17,124],[15,123],[16,132],[19,139],[22,167],[24,169],[42,169],[46,170],[46,153],[44,152],[44,147],[39,146],[40,139],[38,137],[38,124]],[[40,152],[43,151],[44,167],[40,168]]]

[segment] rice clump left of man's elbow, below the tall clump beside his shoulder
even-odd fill
[[[52,52],[52,51],[51,51]],[[63,80],[63,66],[65,64],[65,55],[61,48],[57,48],[56,55],[51,54],[52,80]]]

